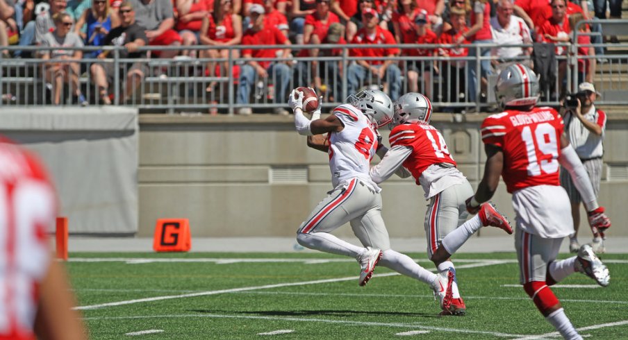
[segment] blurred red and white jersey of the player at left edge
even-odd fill
[[[40,163],[0,140],[0,339],[34,339],[55,215],[56,198]]]

